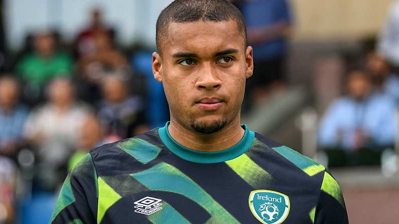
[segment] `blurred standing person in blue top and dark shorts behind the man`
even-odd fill
[[[250,97],[258,100],[286,82],[287,38],[292,17],[287,0],[236,1],[253,47],[254,73],[248,80]]]

